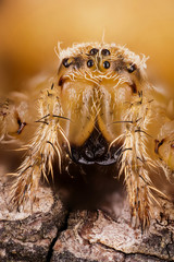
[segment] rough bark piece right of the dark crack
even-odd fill
[[[113,221],[101,211],[75,212],[53,247],[51,261],[69,261],[63,254],[78,258],[70,261],[174,261],[173,230],[172,222],[156,223],[142,236],[124,218]]]

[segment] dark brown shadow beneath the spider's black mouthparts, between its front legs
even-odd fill
[[[117,178],[116,164],[100,166],[72,163],[69,171],[64,169],[59,174],[58,170],[54,164],[52,188],[70,209],[96,210],[107,206],[107,210],[112,210],[113,194],[120,195],[121,200],[126,195],[124,176]]]

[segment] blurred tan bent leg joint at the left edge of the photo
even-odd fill
[[[23,93],[13,93],[0,98],[0,142],[27,143],[36,129],[37,111],[34,103]]]

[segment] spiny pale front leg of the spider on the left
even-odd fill
[[[18,167],[16,174],[12,174],[14,182],[12,184],[12,203],[21,205],[24,201],[35,199],[35,192],[41,175],[48,180],[47,174],[52,171],[52,160],[58,156],[61,169],[61,146],[60,140],[66,140],[64,131],[59,121],[62,116],[59,91],[47,90],[38,99],[38,110],[40,118],[36,120],[39,124],[32,142],[27,145],[27,156]],[[69,141],[66,140],[69,143]]]

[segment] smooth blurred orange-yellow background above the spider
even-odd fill
[[[173,0],[1,0],[0,88],[17,90],[40,71],[57,69],[54,47],[76,41],[123,44],[174,94]]]

